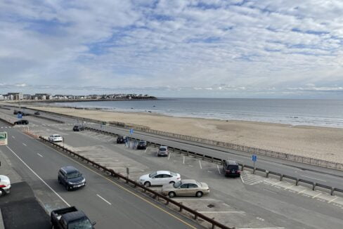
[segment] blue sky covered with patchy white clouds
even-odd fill
[[[343,98],[342,0],[2,0],[0,93]]]

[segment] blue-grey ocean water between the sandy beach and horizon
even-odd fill
[[[163,98],[160,100],[55,103],[55,105],[97,107],[122,112],[150,111],[174,117],[343,128],[343,100]]]

